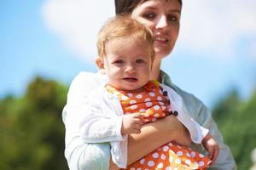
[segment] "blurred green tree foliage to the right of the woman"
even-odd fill
[[[236,90],[220,100],[213,109],[213,117],[230,146],[238,169],[252,165],[251,151],[256,148],[256,91],[250,99],[242,101]]]

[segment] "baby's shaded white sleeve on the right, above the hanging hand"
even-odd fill
[[[180,95],[172,90],[172,88],[166,86],[164,86],[164,90],[167,90],[168,97],[171,100],[171,110],[177,111],[177,119],[189,130],[192,141],[201,144],[201,140],[209,133],[209,130],[205,127],[201,127],[198,122],[195,122],[195,120],[189,116]]]

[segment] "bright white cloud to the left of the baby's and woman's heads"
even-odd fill
[[[96,34],[114,14],[113,0],[47,0],[42,8],[46,25],[82,59],[96,57]]]

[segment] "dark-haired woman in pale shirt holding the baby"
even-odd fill
[[[151,79],[157,79],[174,89],[180,94],[189,111],[190,116],[203,127],[210,129],[212,136],[218,141],[219,156],[213,167],[217,169],[236,169],[236,163],[230,153],[230,149],[224,144],[216,123],[212,120],[210,111],[194,95],[177,88],[170,77],[160,70],[161,59],[172,52],[177,41],[179,20],[181,15],[181,0],[115,0],[116,14],[131,14],[131,17],[148,26],[154,33],[154,59]],[[87,169],[102,169],[108,166],[101,150],[105,148],[84,146],[79,139],[76,127],[76,111],[79,106],[86,105],[86,99],[91,89],[104,81],[104,76],[94,73],[80,73],[72,82],[67,96],[67,105],[63,110],[63,120],[66,126],[66,150],[69,167],[71,169],[83,169],[87,161],[95,161],[95,166]],[[67,117],[66,117],[67,115]],[[167,125],[167,126],[166,126]],[[157,139],[157,140],[156,140]],[[140,134],[129,137],[128,165],[158,149],[162,144],[175,140],[179,144],[189,144],[189,135],[186,129],[175,116],[167,116],[165,119],[148,123],[141,129]],[[147,147],[144,147],[147,145]],[[106,148],[108,148],[108,144]],[[199,145],[194,144],[194,149],[203,151]],[[103,161],[104,160],[104,161]],[[215,160],[213,160],[214,162]],[[113,164],[112,164],[113,166]],[[86,169],[84,168],[84,169]]]

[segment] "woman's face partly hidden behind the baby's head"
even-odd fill
[[[180,8],[177,0],[148,0],[139,3],[131,13],[132,18],[153,31],[155,60],[172,52],[179,31]]]

